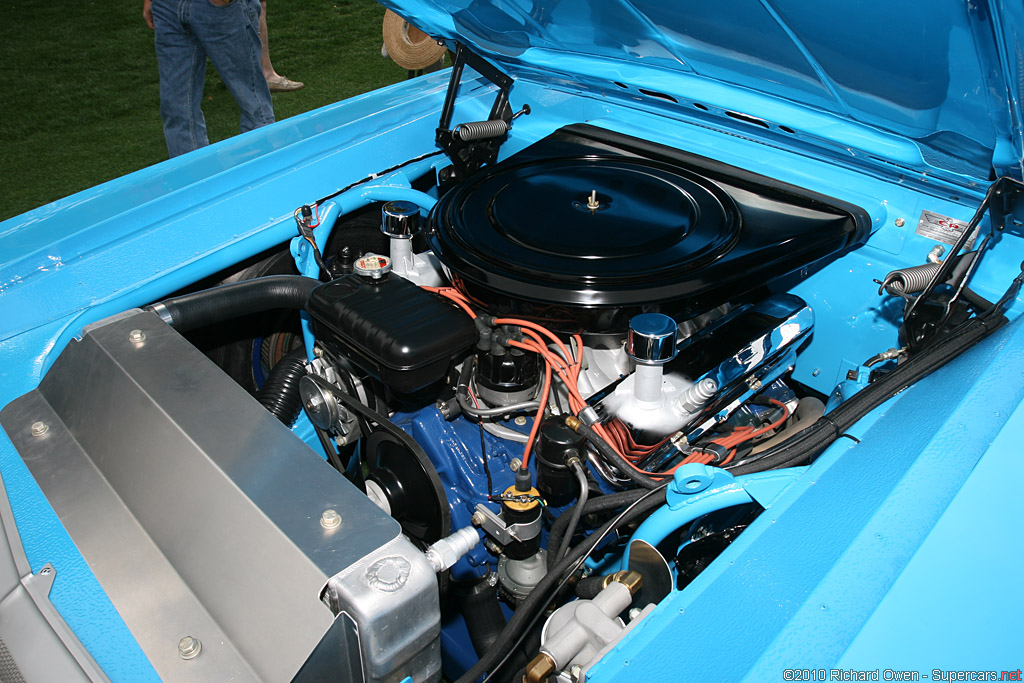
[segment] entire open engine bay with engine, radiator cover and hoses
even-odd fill
[[[889,340],[851,365],[874,338],[817,341],[849,312],[808,283],[864,247],[865,207],[588,124],[498,161],[519,115],[504,90],[493,114],[449,130],[445,105],[447,160],[369,178],[413,166],[409,187],[295,209],[287,249],[86,328],[0,415],[133,631],[131,544],[99,538],[62,453],[212,614],[204,675],[585,681],[853,425],[1001,327],[1024,276],[971,287],[1020,191],[997,180],[948,254],[847,268]],[[204,525],[203,560],[144,512],[182,492],[238,522]],[[271,622],[287,648],[250,628]]]

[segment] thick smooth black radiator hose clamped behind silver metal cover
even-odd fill
[[[146,306],[178,332],[275,308],[303,309],[318,280],[268,275],[183,294]]]

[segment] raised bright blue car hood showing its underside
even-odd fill
[[[603,76],[612,91],[738,110],[762,128],[828,137],[954,181],[1021,177],[1019,1],[385,4],[514,75],[562,84]],[[836,123],[852,124],[849,139],[837,139]]]

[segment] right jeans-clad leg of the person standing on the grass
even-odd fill
[[[259,2],[214,5],[193,0],[190,26],[242,110],[242,132],[273,123],[270,89],[260,67]]]

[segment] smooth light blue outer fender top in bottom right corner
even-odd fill
[[[1019,405],[837,668],[1022,667],[1022,437]]]

